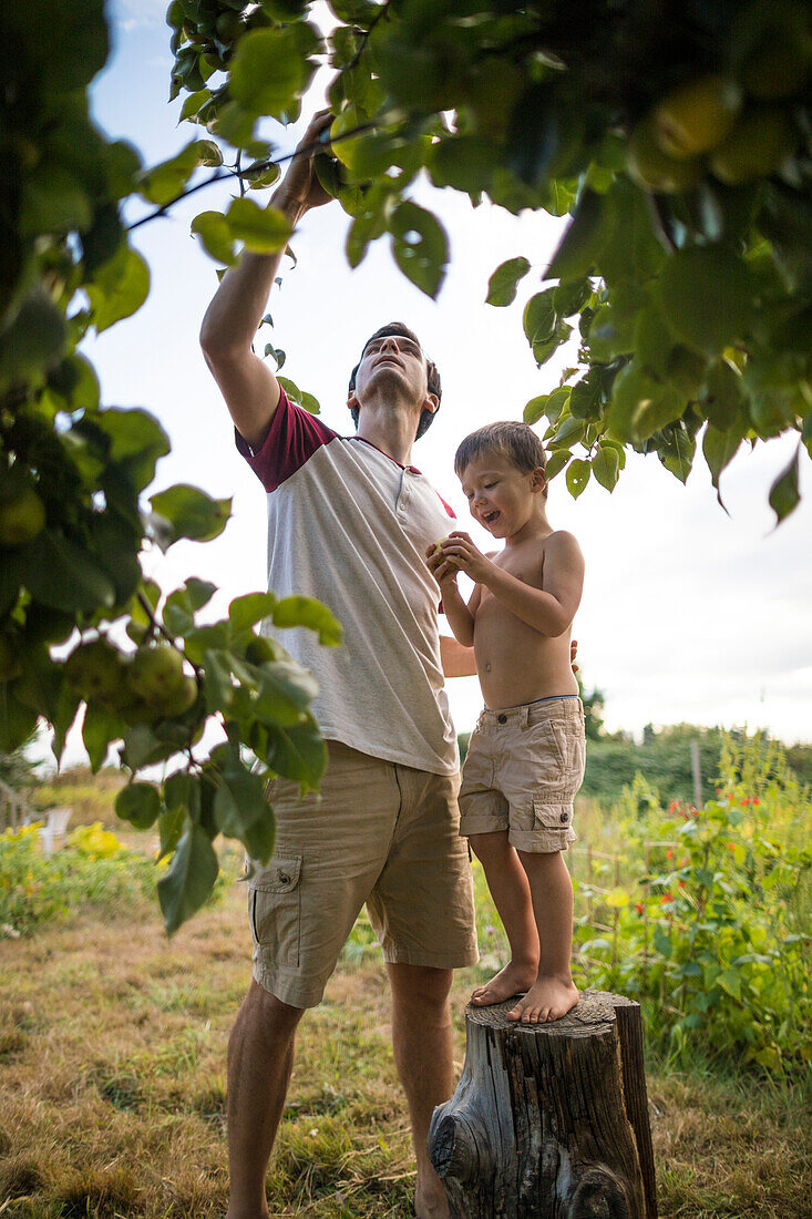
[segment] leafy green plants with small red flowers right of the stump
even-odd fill
[[[810,796],[775,742],[723,741],[703,808],[624,797],[623,884],[578,885],[582,984],[644,1006],[675,1057],[796,1074],[812,1062]],[[646,865],[647,859],[647,865]]]

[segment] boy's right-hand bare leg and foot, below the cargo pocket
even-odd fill
[[[507,1013],[508,1020],[544,1024],[558,1020],[578,1002],[569,968],[572,958],[572,880],[561,851],[519,851],[541,934],[539,974],[529,991]]]

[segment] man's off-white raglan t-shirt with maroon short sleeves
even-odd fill
[[[339,436],[284,391],[268,436],[237,445],[268,501],[268,588],[329,606],[344,645],[302,627],[273,634],[319,686],[313,714],[328,740],[434,774],[457,769],[440,664],[439,589],[426,549],[454,511],[413,466]]]

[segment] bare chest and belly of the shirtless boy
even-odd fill
[[[545,553],[554,531],[508,546],[489,558],[532,588],[545,588]],[[516,707],[555,695],[578,694],[572,670],[572,628],[555,639],[517,618],[483,584],[477,584],[469,610],[474,618],[474,655],[485,706]]]

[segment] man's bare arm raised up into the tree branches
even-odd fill
[[[316,144],[332,115],[319,111],[299,147]],[[295,227],[311,207],[327,204],[330,195],[318,183],[313,155],[294,157],[288,173],[271,196]],[[239,434],[251,449],[261,447],[279,405],[279,382],[254,355],[251,343],[265,315],[273,280],[282,261],[278,254],[244,252],[223,275],[200,328],[200,346]]]

